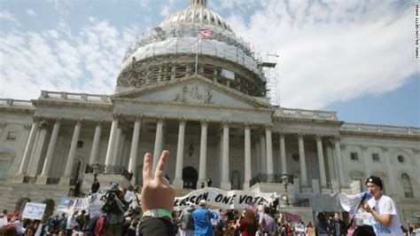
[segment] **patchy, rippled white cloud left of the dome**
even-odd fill
[[[111,94],[136,27],[121,31],[93,20],[72,35],[68,25],[0,37],[0,98],[37,98],[40,90]],[[7,83],[6,83],[7,82]]]

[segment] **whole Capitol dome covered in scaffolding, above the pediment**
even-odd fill
[[[186,9],[169,15],[132,43],[116,92],[202,75],[249,96],[265,97],[266,79],[253,51],[206,4],[190,0]]]

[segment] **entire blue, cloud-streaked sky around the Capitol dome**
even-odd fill
[[[420,127],[413,1],[209,0],[254,51],[276,53],[273,102],[345,122]],[[0,0],[0,98],[112,94],[129,43],[188,0]]]

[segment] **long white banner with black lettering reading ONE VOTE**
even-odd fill
[[[270,198],[275,196],[276,193],[253,193],[240,190],[224,191],[218,188],[206,187],[192,191],[183,197],[175,198],[174,209],[186,208],[188,202],[198,205],[201,200],[205,200],[207,205],[213,208],[258,207],[263,206]]]

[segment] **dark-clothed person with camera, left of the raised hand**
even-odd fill
[[[106,193],[106,201],[102,210],[106,214],[105,235],[121,235],[124,213],[128,210],[128,202],[124,200],[127,189],[113,188]]]

